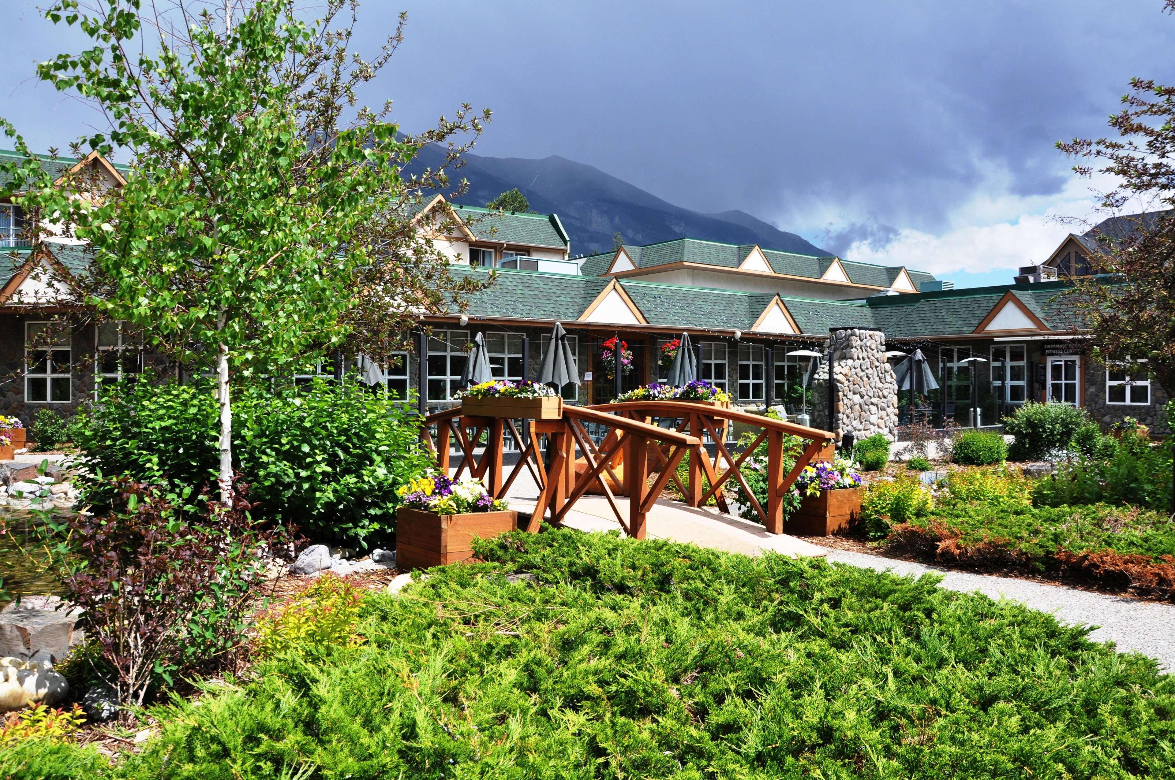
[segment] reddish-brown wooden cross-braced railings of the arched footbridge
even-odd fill
[[[421,436],[442,473],[450,471],[450,457],[456,446],[461,458],[455,478],[465,473],[479,477],[496,498],[504,498],[522,470],[529,470],[539,488],[528,526],[531,532],[538,531],[544,517],[560,522],[580,497],[593,491],[606,498],[625,533],[643,539],[646,516],[671,480],[687,505],[703,506],[713,498],[723,512],[730,512],[724,488],[733,479],[750,497],[766,530],[783,533],[783,497],[804,466],[818,458],[831,458],[833,446],[833,435],[828,431],[682,401],[563,405],[557,419],[522,419],[522,430],[516,421],[508,416],[466,416],[457,406],[425,417]],[[738,455],[732,453],[726,443],[726,432],[734,423],[758,431],[753,443]],[[432,428],[436,429],[435,438]],[[595,437],[589,435],[589,428],[593,429]],[[786,436],[798,436],[806,445],[785,472]],[[509,475],[504,468],[508,437],[521,452]],[[706,439],[716,449],[712,458]],[[549,465],[542,457],[543,441]],[[747,459],[764,442],[767,444],[766,506],[756,500],[743,472]],[[476,450],[483,444],[481,457],[477,457]],[[686,455],[690,456],[689,470],[683,483],[677,469]],[[653,473],[657,477],[650,482]],[[627,497],[627,512],[617,503],[618,495]]]

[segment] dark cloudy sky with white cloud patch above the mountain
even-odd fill
[[[63,148],[100,117],[29,78],[79,46],[35,5],[5,0],[0,115]],[[1175,81],[1160,0],[369,0],[360,48],[401,8],[407,40],[365,98],[407,129],[489,107],[479,154],[562,155],[960,284],[1007,282],[1073,229],[1055,217],[1093,218],[1054,143],[1100,135],[1130,76]]]

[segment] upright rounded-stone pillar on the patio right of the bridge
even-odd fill
[[[885,358],[885,334],[852,328],[832,334],[837,379],[837,441],[853,433],[898,438],[898,381]]]

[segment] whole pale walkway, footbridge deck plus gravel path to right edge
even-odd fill
[[[538,488],[525,471],[518,475],[508,495],[510,506],[525,515],[530,515],[537,497]],[[627,516],[627,500],[618,498],[617,505]],[[619,529],[616,516],[603,496],[584,496],[576,502],[564,525],[597,532]],[[1092,640],[1113,641],[1121,652],[1149,655],[1164,671],[1175,672],[1175,604],[1094,593],[1027,579],[960,572],[861,552],[830,550],[798,537],[767,533],[757,523],[721,515],[717,510],[692,509],[678,502],[657,502],[647,516],[647,536],[748,556],[760,556],[771,550],[788,556],[824,557],[834,564],[888,570],[895,574],[919,577],[933,572],[941,574],[941,586],[952,591],[978,591],[993,599],[1012,599],[1033,610],[1048,612],[1067,625],[1097,626],[1089,634]]]

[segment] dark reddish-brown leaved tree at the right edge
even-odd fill
[[[1175,0],[1164,4],[1175,12]],[[1132,79],[1122,109],[1109,117],[1117,137],[1074,139],[1058,147],[1079,159],[1083,176],[1107,173],[1120,183],[1102,195],[1102,207],[1119,214],[1141,203],[1148,214],[1135,229],[1104,235],[1090,257],[1116,278],[1079,278],[1070,294],[1093,334],[1100,359],[1128,367],[1130,376],[1150,374],[1175,395],[1175,86]],[[1139,363],[1139,361],[1147,361]]]

